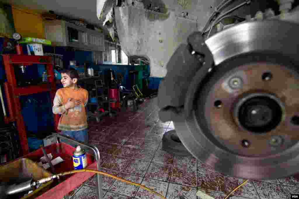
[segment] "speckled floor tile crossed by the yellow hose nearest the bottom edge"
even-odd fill
[[[167,187],[168,187],[168,182],[161,182],[161,181],[157,181],[157,180],[153,180],[150,178],[144,178],[144,180],[141,183],[143,186],[163,195],[165,197],[166,192],[167,192]],[[144,199],[144,198],[148,198],[148,199],[160,199],[159,196],[145,190],[142,188],[138,189],[138,192],[135,196],[135,198],[138,199]]]

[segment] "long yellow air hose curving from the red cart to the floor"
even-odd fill
[[[129,183],[129,184],[133,184],[133,185],[136,185],[136,186],[140,186],[141,188],[149,191],[149,192],[152,192],[153,194],[159,196],[160,198],[163,198],[163,199],[166,199],[163,195],[141,185],[141,184],[138,184],[138,183],[135,183],[135,182],[131,182],[131,181],[127,181],[123,178],[119,178],[115,175],[111,175],[109,173],[105,173],[105,172],[101,172],[101,171],[97,171],[97,170],[93,170],[93,169],[78,169],[78,170],[72,170],[72,171],[67,171],[67,172],[62,172],[60,174],[57,174],[58,176],[64,176],[64,175],[69,175],[69,174],[72,174],[72,173],[79,173],[79,172],[93,172],[93,173],[98,173],[98,174],[102,174],[102,175],[106,175],[106,176],[109,176],[111,178],[115,178],[117,180],[120,180],[120,181],[123,181],[123,182],[126,182],[126,183]]]

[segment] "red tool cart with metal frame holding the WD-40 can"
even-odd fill
[[[57,142],[45,147],[46,154],[52,153],[53,159],[60,156],[64,161],[58,163],[54,166],[55,173],[58,174],[60,172],[71,171],[74,170],[72,155],[75,151],[75,148],[69,144],[73,144],[76,146],[81,146],[82,149],[86,149],[86,151],[90,150],[94,155],[89,152],[86,153],[87,156],[87,169],[99,170],[100,168],[100,152],[96,146],[88,145],[76,141],[68,136],[60,135],[54,133]],[[38,149],[32,153],[29,153],[21,158],[28,158],[32,161],[38,162],[40,158],[44,156],[42,149]],[[71,175],[63,176],[60,178],[60,183],[58,183],[53,188],[49,189],[47,192],[38,196],[38,199],[61,199],[63,197],[69,198],[68,193],[80,186],[83,182],[88,180],[94,173],[91,172],[80,172],[74,173]],[[96,196],[97,199],[103,198],[102,191],[102,175],[96,174]]]

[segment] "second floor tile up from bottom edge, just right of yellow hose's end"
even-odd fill
[[[170,182],[196,187],[196,171],[173,167]]]

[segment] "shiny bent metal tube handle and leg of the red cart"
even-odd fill
[[[94,145],[89,145],[83,142],[79,142],[77,140],[74,140],[73,138],[66,136],[66,135],[61,135],[58,133],[53,133],[53,135],[55,136],[55,140],[57,142],[57,144],[60,143],[60,140],[62,139],[66,144],[75,144],[77,146],[80,146],[81,149],[91,149],[94,152],[94,157],[95,160],[97,162],[97,170],[100,170],[100,152],[99,149],[97,149],[96,146]],[[59,147],[57,147],[57,152],[59,152],[60,149]],[[103,198],[103,190],[102,190],[102,183],[103,183],[103,178],[102,175],[100,174],[96,174],[96,194],[97,194],[97,199],[102,199]],[[68,199],[68,195],[66,196],[66,198]]]

